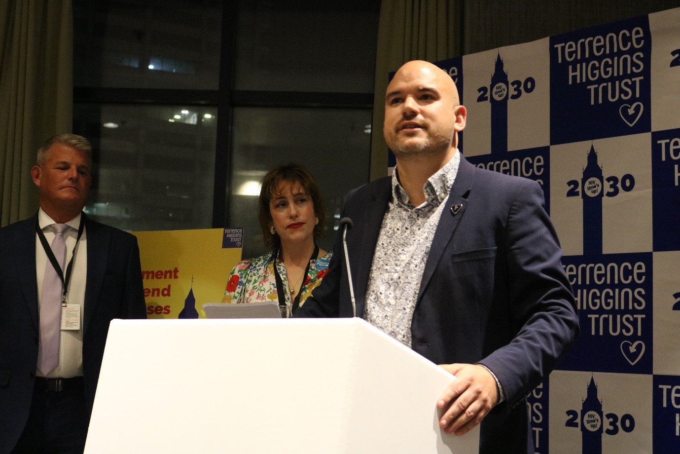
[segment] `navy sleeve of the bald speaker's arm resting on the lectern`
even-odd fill
[[[556,231],[536,182],[513,185],[503,248],[510,314],[517,335],[479,363],[496,374],[511,408],[541,383],[579,333]]]

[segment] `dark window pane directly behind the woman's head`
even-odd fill
[[[333,244],[342,200],[369,180],[371,110],[237,108],[228,226],[243,227],[243,257],[267,251],[258,222],[258,183],[277,164],[305,165],[328,208],[319,246]]]

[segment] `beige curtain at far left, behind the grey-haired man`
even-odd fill
[[[37,210],[35,153],[72,114],[71,0],[0,0],[0,226]]]

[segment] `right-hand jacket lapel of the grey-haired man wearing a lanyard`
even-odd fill
[[[83,216],[85,214],[83,213]],[[99,293],[106,275],[106,264],[109,257],[109,243],[111,238],[101,231],[99,225],[90,218],[85,218],[87,235],[87,277],[85,287],[85,319],[83,321],[83,334],[87,332],[88,325],[95,312],[95,306],[99,302]]]

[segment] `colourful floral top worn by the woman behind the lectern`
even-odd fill
[[[302,306],[305,299],[311,295],[311,291],[318,287],[322,278],[326,276],[326,272],[328,272],[328,261],[330,261],[331,255],[333,255],[333,253],[328,252],[326,255],[309,262],[309,272],[307,273],[307,277],[302,286],[300,306]],[[278,301],[279,295],[276,291],[274,264],[276,264],[284,285],[284,299],[286,300],[288,315],[290,316],[292,299],[290,299],[286,267],[278,257],[273,261],[271,259],[271,253],[260,255],[260,257],[256,257],[255,259],[239,261],[234,269],[231,270],[229,280],[226,282],[226,289],[224,291],[224,297],[222,297],[222,302],[255,303]]]

